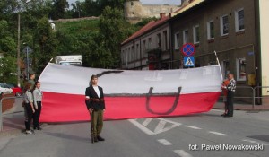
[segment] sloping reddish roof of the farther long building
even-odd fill
[[[161,18],[158,21],[152,21],[152,22],[148,22],[146,25],[143,26],[143,28],[141,28],[139,31],[134,32],[134,34],[132,36],[130,36],[128,39],[124,40],[121,45],[126,44],[127,42],[138,38],[139,36],[143,35],[145,32],[147,31],[151,31],[153,28],[163,24],[164,22],[167,22],[169,20],[169,16],[164,16],[163,18]]]

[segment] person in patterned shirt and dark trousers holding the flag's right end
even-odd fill
[[[224,116],[224,118],[233,117],[233,99],[234,99],[234,92],[236,90],[236,81],[234,80],[233,74],[228,74],[228,79],[230,83],[227,86],[222,86],[222,88],[227,89],[227,109],[228,112]]]

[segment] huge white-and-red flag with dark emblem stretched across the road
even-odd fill
[[[134,71],[49,63],[39,77],[43,91],[41,122],[90,119],[85,89],[99,76],[105,94],[104,118],[172,117],[206,112],[221,94],[219,65],[190,69]]]

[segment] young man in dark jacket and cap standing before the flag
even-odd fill
[[[91,76],[91,85],[86,88],[86,105],[91,115],[91,142],[105,141],[100,136],[103,128],[103,114],[106,109],[103,89],[97,85],[98,76]]]

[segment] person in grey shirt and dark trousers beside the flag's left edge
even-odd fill
[[[42,128],[39,126],[39,118],[42,109],[42,98],[43,92],[40,90],[41,83],[38,81],[35,83],[35,90],[33,91],[33,98],[34,98],[34,117],[33,117],[33,125],[34,129],[41,130]]]

